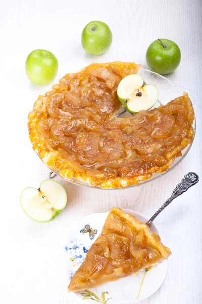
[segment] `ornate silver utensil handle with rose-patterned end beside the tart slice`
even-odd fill
[[[186,192],[188,188],[195,185],[198,181],[199,177],[194,172],[189,172],[184,175],[184,178],[182,178],[181,182],[174,189],[172,196],[159,208],[159,210],[157,210],[157,212],[153,216],[151,216],[151,218],[146,222],[146,224],[150,226],[150,224],[157,217],[157,215],[162,212],[162,210],[164,210],[175,198]]]

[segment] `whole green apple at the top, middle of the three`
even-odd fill
[[[91,21],[81,34],[81,44],[84,50],[91,55],[104,54],[112,43],[112,32],[109,26],[102,21]]]

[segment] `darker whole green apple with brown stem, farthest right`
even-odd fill
[[[168,39],[155,40],[146,51],[148,67],[161,75],[174,72],[180,60],[181,52],[178,45]]]

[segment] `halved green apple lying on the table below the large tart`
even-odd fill
[[[23,211],[38,222],[48,222],[58,216],[67,204],[64,187],[57,181],[46,179],[40,188],[28,187],[20,195]]]

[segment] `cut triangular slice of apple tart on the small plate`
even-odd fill
[[[136,274],[170,255],[170,249],[146,224],[120,208],[113,208],[68,290],[81,291]]]

